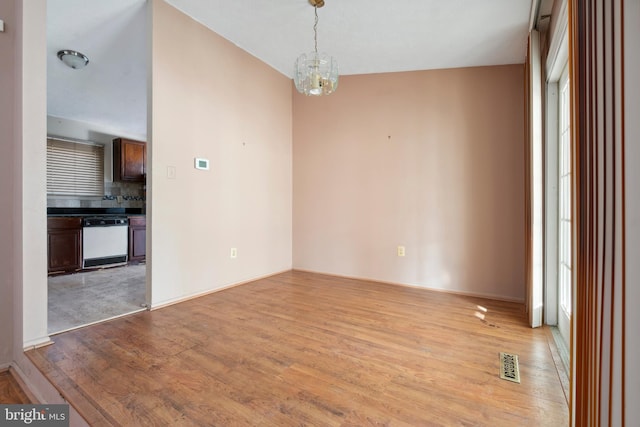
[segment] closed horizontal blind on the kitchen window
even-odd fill
[[[47,138],[47,194],[104,195],[104,147]]]

